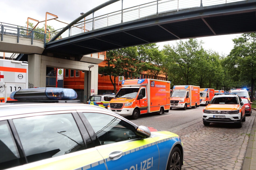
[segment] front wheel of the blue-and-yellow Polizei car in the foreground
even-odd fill
[[[178,147],[174,147],[171,151],[168,164],[167,164],[167,170],[170,169],[177,169],[180,170],[182,166],[182,155],[181,151]]]

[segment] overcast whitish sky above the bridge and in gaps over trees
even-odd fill
[[[124,7],[128,8],[136,5],[140,5],[147,2],[152,2],[153,0],[124,0]],[[107,2],[107,0],[0,0],[1,10],[0,10],[0,22],[26,26],[27,17],[36,19],[38,21],[45,20],[45,13],[49,12],[58,16],[58,20],[65,23],[70,23],[80,16],[80,13],[86,13],[87,11],[95,8],[96,6]],[[97,12],[95,16],[100,16],[110,12],[121,10],[121,1],[115,2]],[[52,16],[47,15],[47,19],[52,18]],[[91,16],[86,19],[92,18]],[[30,22],[37,23],[35,21]],[[38,26],[43,27],[44,23],[40,23]],[[47,25],[52,25],[55,29],[65,27],[66,24],[59,23],[55,20],[47,21]],[[241,34],[233,35],[220,35],[198,38],[204,42],[204,49],[218,52],[221,54],[229,54],[230,50],[233,48],[233,38],[236,38]],[[166,41],[157,43],[159,49],[163,48],[165,44],[173,45],[175,41]],[[0,52],[0,56],[3,53]],[[6,55],[7,56],[7,55]]]

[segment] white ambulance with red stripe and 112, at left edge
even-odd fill
[[[13,91],[28,88],[26,61],[0,59],[0,103],[10,99]]]

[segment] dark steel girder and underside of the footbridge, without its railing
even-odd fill
[[[147,43],[246,32],[256,32],[255,1],[191,8],[100,28],[47,43],[44,53],[78,57]]]

